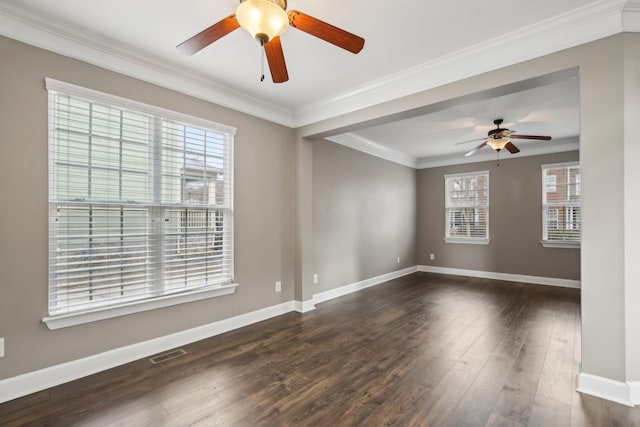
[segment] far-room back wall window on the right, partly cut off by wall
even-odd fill
[[[578,247],[581,228],[580,166],[542,165],[542,245]]]

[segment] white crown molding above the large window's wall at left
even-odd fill
[[[210,77],[187,71],[113,40],[98,39],[68,25],[64,29],[50,25],[36,14],[2,3],[0,34],[232,110],[284,126],[295,126],[293,112],[286,108],[225,87]]]

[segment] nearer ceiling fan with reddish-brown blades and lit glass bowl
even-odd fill
[[[289,26],[352,53],[358,53],[364,47],[362,37],[297,10],[287,12],[287,0],[240,0],[235,14],[227,16],[176,47],[180,52],[193,55],[242,27],[264,48],[273,82],[283,83],[289,80],[289,74],[280,35]],[[263,79],[264,72],[261,80]]]

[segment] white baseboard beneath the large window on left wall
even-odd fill
[[[0,381],[0,403],[55,387],[125,363],[152,356],[296,310],[297,301],[266,307],[208,325],[131,344]]]

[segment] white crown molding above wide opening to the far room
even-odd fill
[[[603,37],[632,31],[640,2],[602,0],[435,61],[318,100],[295,112],[303,126],[484,72],[538,58]],[[623,14],[628,25],[623,25]],[[640,31],[640,30],[635,30]]]

